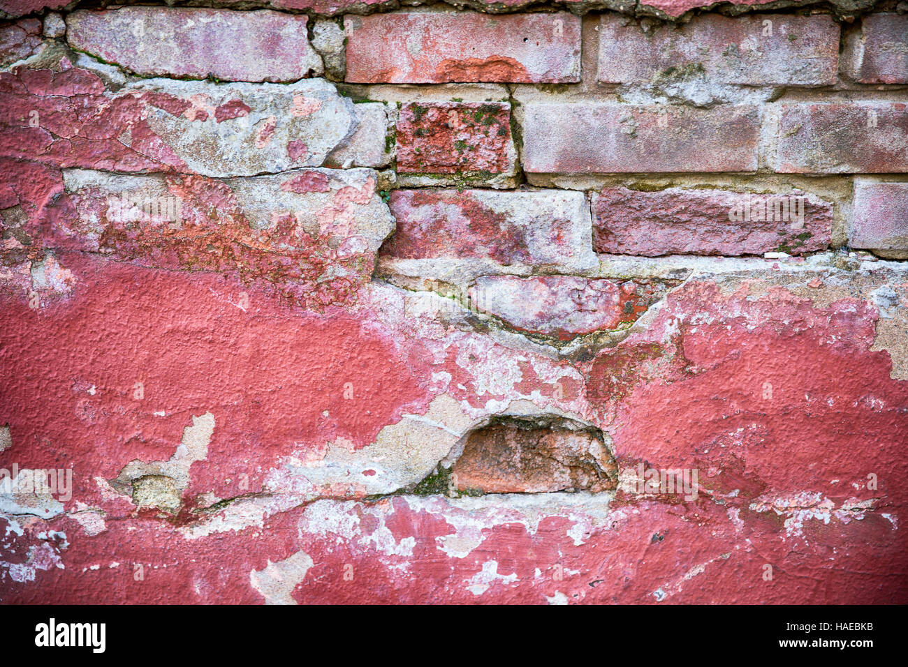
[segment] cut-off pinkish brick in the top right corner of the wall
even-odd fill
[[[844,64],[860,83],[908,83],[908,15],[864,16],[848,35]]]

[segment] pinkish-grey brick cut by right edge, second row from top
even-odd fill
[[[783,103],[775,171],[908,172],[908,104]]]

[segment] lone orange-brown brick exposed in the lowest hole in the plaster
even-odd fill
[[[451,468],[459,491],[487,494],[604,491],[617,464],[589,430],[506,419],[474,430]]]

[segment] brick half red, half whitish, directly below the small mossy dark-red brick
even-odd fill
[[[492,260],[565,270],[596,265],[582,192],[397,190],[397,231],[382,254],[398,260]]]

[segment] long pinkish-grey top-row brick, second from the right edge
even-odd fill
[[[709,14],[680,28],[661,25],[648,33],[636,23],[622,25],[625,20],[618,15],[600,19],[601,82],[645,83],[691,74],[753,85],[836,80],[839,26],[826,15]]]

